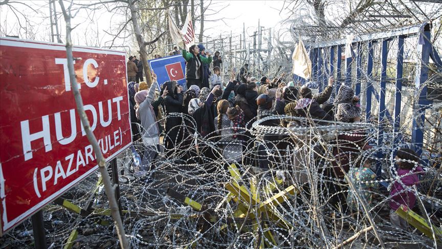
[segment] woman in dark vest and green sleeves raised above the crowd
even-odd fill
[[[203,65],[209,65],[212,63],[212,56],[210,53],[206,53],[208,57],[203,57],[200,54],[200,48],[196,45],[192,45],[189,48],[189,52],[185,49],[182,51],[183,58],[186,60],[186,81],[187,81],[187,89],[192,85],[196,85],[200,88],[208,87],[203,86],[204,80],[204,67]],[[207,82],[208,78],[207,78]]]

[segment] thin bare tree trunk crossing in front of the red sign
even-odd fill
[[[69,77],[71,79],[71,89],[74,94],[75,103],[77,105],[77,112],[80,116],[81,123],[83,124],[84,131],[86,132],[87,140],[92,145],[95,155],[97,156],[98,168],[100,169],[101,177],[103,179],[104,187],[106,189],[107,199],[109,200],[109,208],[111,209],[111,215],[114,218],[115,227],[117,229],[118,239],[120,240],[121,248],[128,248],[127,238],[124,232],[123,222],[121,221],[120,212],[118,210],[117,200],[115,199],[115,186],[113,186],[111,179],[109,178],[109,173],[107,173],[106,160],[101,152],[100,146],[98,144],[97,138],[91,131],[91,125],[89,119],[87,119],[86,113],[84,112],[83,100],[78,90],[77,79],[75,77],[74,70],[74,56],[72,54],[72,39],[71,39],[71,13],[68,13],[63,5],[63,1],[58,1],[61,10],[63,12],[64,21],[66,23],[66,56],[68,59],[68,70]]]

